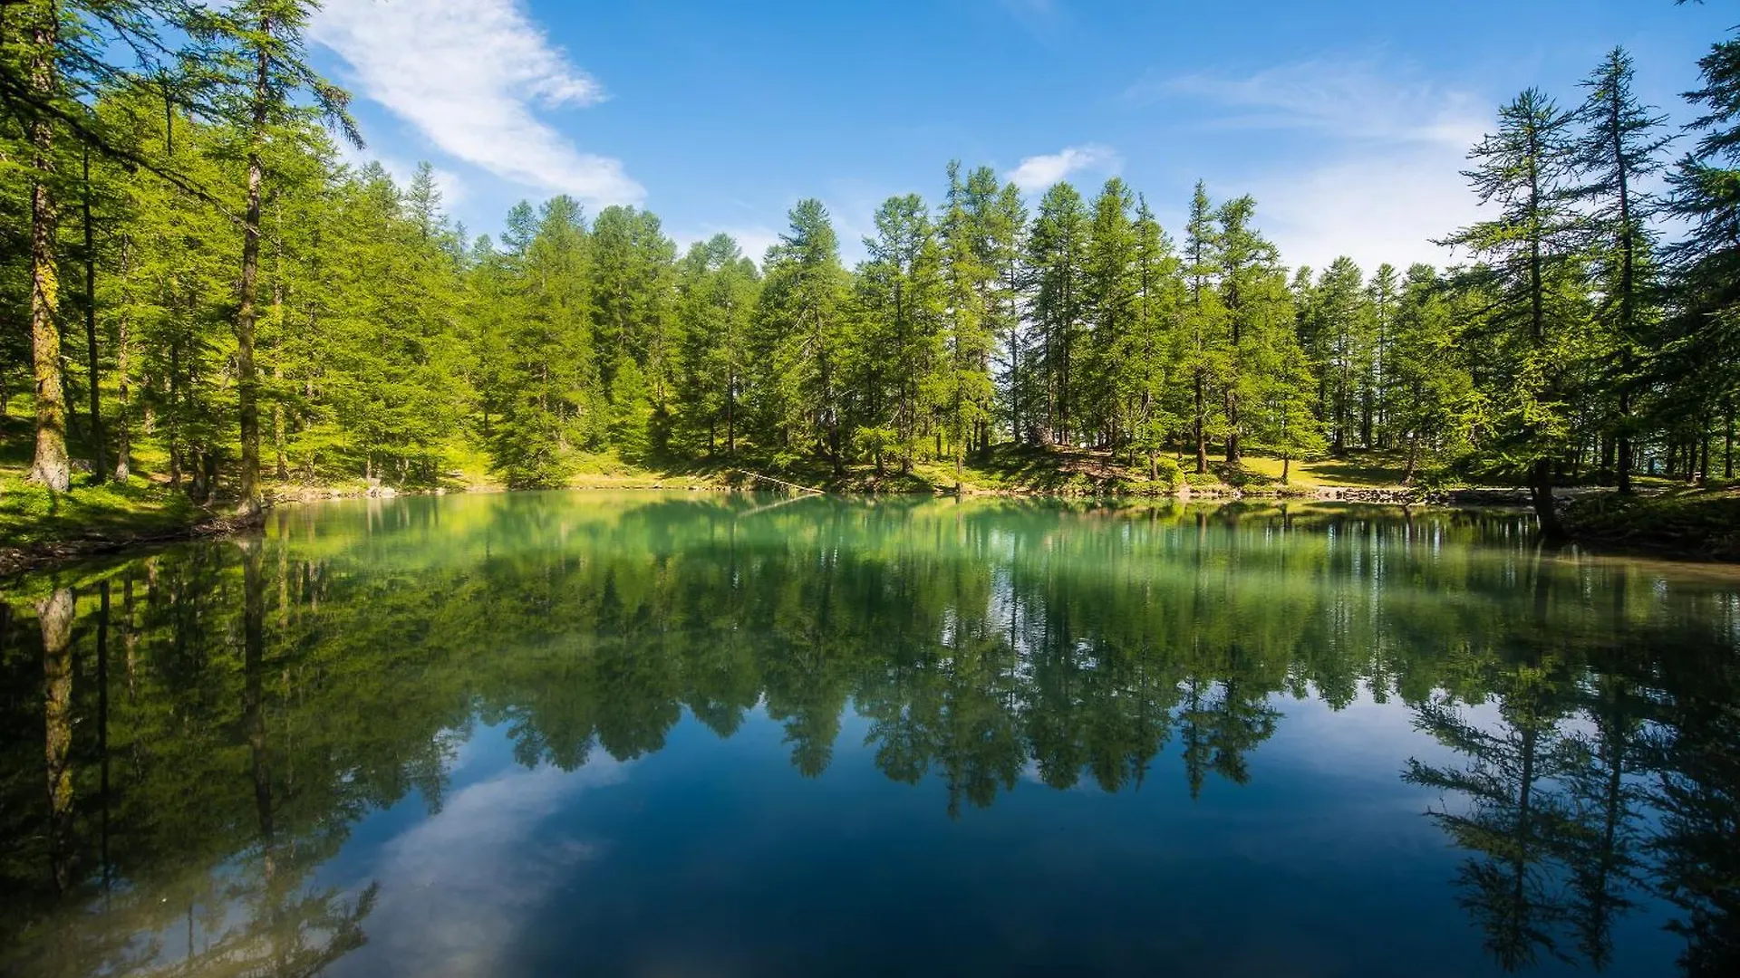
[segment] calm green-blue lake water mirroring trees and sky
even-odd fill
[[[1740,573],[512,494],[0,592],[0,971],[1740,975]]]

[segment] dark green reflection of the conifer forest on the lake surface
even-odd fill
[[[851,710],[962,818],[1027,773],[1246,785],[1288,698],[1369,696],[1455,757],[1402,778],[1502,968],[1601,969],[1663,898],[1686,973],[1740,971],[1733,578],[1540,553],[1507,515],[762,503],[315,506],[17,581],[3,966],[320,971],[378,893],[318,867],[371,811],[438,811],[478,724],[574,771],[760,707],[816,776]]]

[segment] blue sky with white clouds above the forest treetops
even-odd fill
[[[1169,230],[1202,178],[1253,193],[1289,265],[1369,270],[1446,259],[1430,238],[1477,214],[1456,171],[1498,103],[1575,103],[1623,44],[1684,120],[1737,21],[1728,0],[325,0],[313,37],[360,157],[432,162],[477,233],[571,193],[759,258],[820,197],[851,261],[882,198],[936,200],[960,158],[1035,197],[1119,174]]]

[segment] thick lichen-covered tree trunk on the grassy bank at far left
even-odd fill
[[[30,28],[30,89],[42,103],[57,94],[54,54],[59,45],[57,3],[44,3]],[[37,381],[37,454],[30,465],[31,482],[52,492],[66,492],[73,484],[66,461],[66,392],[61,386],[61,311],[59,273],[54,266],[54,127],[47,118],[30,122],[30,346]]]

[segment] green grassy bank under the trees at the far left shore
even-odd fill
[[[198,517],[184,494],[137,477],[92,486],[75,475],[70,492],[49,492],[17,472],[0,473],[0,546],[162,536]]]

